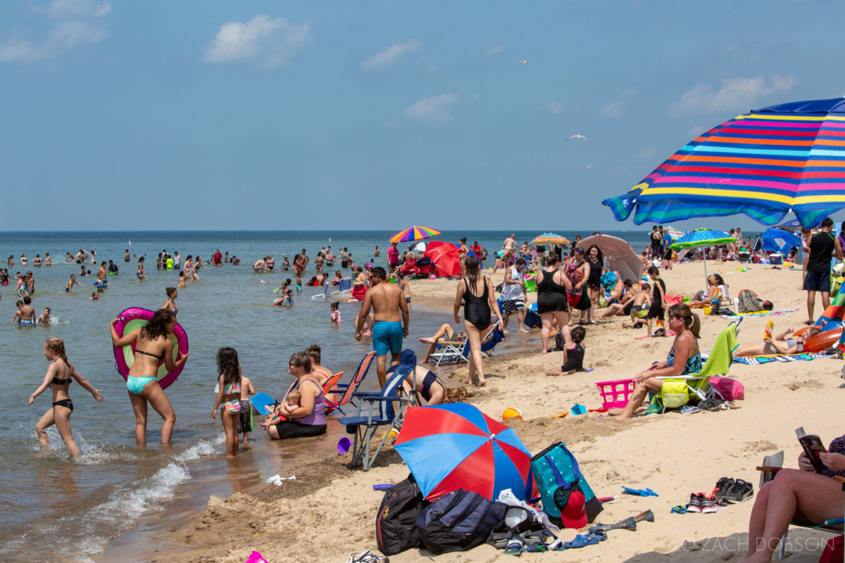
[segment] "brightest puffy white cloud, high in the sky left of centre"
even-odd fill
[[[207,62],[256,62],[265,68],[281,67],[311,41],[311,22],[292,24],[284,18],[258,14],[248,22],[220,26],[205,50]]]

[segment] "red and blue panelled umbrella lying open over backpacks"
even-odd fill
[[[410,407],[393,446],[429,500],[473,490],[525,499],[531,453],[514,430],[466,403]]]

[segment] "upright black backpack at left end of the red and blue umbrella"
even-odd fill
[[[422,547],[417,531],[417,516],[428,506],[413,475],[384,491],[375,517],[375,537],[379,551],[395,555],[406,549]]]

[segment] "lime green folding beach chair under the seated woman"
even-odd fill
[[[694,399],[698,401],[724,400],[722,395],[711,386],[710,378],[728,373],[733,362],[733,350],[738,345],[736,335],[739,322],[742,322],[741,318],[738,322],[731,322],[728,328],[719,333],[716,342],[713,343],[710,356],[698,373],[685,376],[657,376],[657,379],[663,381],[662,389],[657,393],[657,398],[662,403],[661,412],[665,412],[666,409],[677,409]],[[649,411],[655,412],[651,408]]]

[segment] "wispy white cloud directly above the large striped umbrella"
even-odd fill
[[[771,94],[786,94],[798,84],[794,74],[773,74],[751,78],[722,78],[719,89],[701,82],[687,90],[681,99],[669,106],[669,113],[682,116],[698,111],[750,110],[758,100]]]

